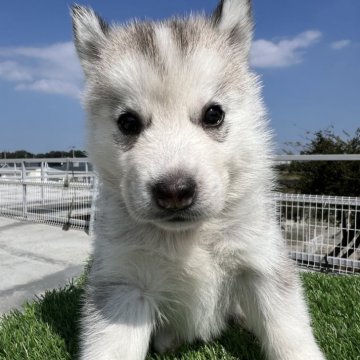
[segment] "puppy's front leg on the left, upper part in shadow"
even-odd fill
[[[81,360],[143,360],[154,326],[152,300],[124,284],[88,286]]]

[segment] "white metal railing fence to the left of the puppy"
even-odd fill
[[[2,161],[0,215],[87,230],[95,180],[87,159]]]

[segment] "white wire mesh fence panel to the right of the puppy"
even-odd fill
[[[360,273],[360,198],[274,194],[283,238],[300,266]]]

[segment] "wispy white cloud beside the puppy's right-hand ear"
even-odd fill
[[[253,42],[250,63],[253,67],[279,68],[301,63],[304,50],[318,42],[322,34],[317,30],[305,31],[293,38]]]

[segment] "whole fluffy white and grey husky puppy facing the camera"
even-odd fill
[[[101,181],[81,359],[142,360],[234,315],[269,359],[324,359],[271,198],[250,0],[123,26],[72,17]]]

